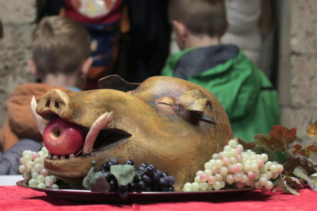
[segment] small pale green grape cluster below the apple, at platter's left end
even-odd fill
[[[58,185],[54,184],[57,178],[53,175],[49,176],[49,172],[44,168],[44,158],[47,157],[48,153],[49,151],[45,147],[42,147],[38,152],[23,151],[19,171],[23,174],[23,178],[28,181],[29,187],[59,189]]]

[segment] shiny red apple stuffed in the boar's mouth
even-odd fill
[[[53,155],[75,154],[84,145],[84,130],[78,125],[57,117],[45,127],[43,142]]]

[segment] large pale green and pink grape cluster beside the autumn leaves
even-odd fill
[[[215,153],[204,164],[204,171],[197,171],[193,183],[185,183],[183,191],[219,190],[226,184],[242,189],[245,186],[271,190],[278,173],[284,170],[277,161],[268,161],[268,155],[244,150],[241,144],[231,139],[223,152]]]

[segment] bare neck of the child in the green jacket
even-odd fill
[[[212,45],[219,45],[219,37],[210,37],[208,35],[194,35],[188,34],[188,38],[185,42],[185,48],[190,47],[208,47]]]

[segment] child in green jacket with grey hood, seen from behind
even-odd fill
[[[182,50],[161,74],[209,89],[222,103],[235,137],[253,140],[279,124],[277,92],[264,73],[235,45],[222,45],[228,28],[223,0],[172,0],[169,18]]]

